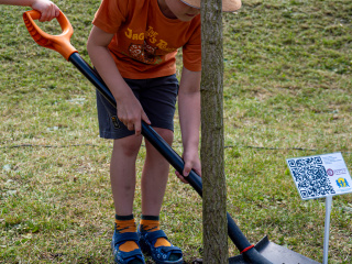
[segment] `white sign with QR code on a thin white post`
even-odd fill
[[[352,193],[352,179],[340,152],[286,160],[302,200],[326,198],[323,264],[328,264],[332,196]]]

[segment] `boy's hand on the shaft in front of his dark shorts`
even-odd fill
[[[151,121],[146,117],[140,101],[130,95],[122,100],[117,100],[118,118],[119,120],[131,131],[134,130],[135,135],[140,135],[142,132],[142,122],[144,120],[147,124]]]

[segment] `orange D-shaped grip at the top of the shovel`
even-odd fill
[[[35,10],[23,13],[24,24],[31,36],[38,45],[58,52],[68,61],[69,56],[77,52],[77,50],[70,44],[70,37],[74,34],[74,29],[68,19],[62,11],[59,11],[59,15],[56,20],[58,21],[63,32],[59,35],[51,35],[41,30],[41,28],[34,22],[34,20],[38,20],[40,18],[41,13]]]

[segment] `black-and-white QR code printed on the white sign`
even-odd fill
[[[336,194],[320,156],[288,160],[287,164],[302,199]]]

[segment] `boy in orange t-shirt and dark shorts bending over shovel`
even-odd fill
[[[240,0],[223,0],[223,11],[240,6]],[[141,249],[156,263],[183,263],[180,249],[160,228],[169,166],[147,141],[138,231],[132,210],[141,120],[172,144],[177,96],[185,161],[183,175],[177,176],[186,182],[184,176],[190,169],[200,174],[199,8],[200,0],[102,0],[92,22],[88,53],[117,101],[116,110],[97,92],[100,135],[114,140],[110,178],[116,229],[111,245],[120,264],[144,263]],[[175,56],[179,47],[184,67],[178,86]]]

